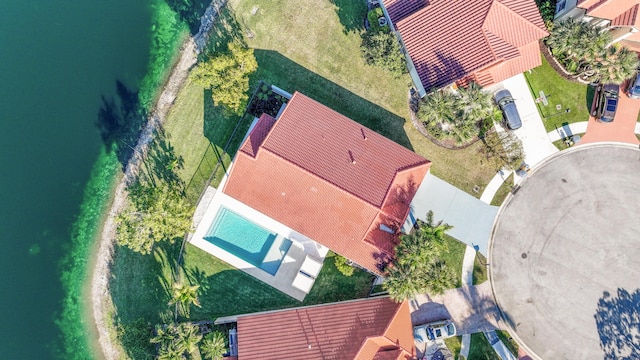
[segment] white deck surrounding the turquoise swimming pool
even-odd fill
[[[224,188],[226,178],[222,180],[219,189]],[[212,188],[211,188],[212,189]],[[203,199],[204,200],[204,199]],[[284,256],[282,264],[278,268],[275,275],[250,264],[249,262],[221,249],[209,241],[204,239],[211,224],[215,220],[221,207],[229,209],[239,215],[242,215],[251,222],[259,225],[271,232],[281,235],[292,241],[289,251]],[[313,257],[320,262],[324,262],[329,249],[308,237],[290,229],[270,217],[248,207],[247,205],[237,201],[236,199],[224,194],[222,191],[216,190],[212,197],[201,201],[196,209],[198,214],[196,230],[190,237],[189,242],[198,248],[208,252],[209,254],[225,261],[231,266],[244,271],[254,278],[282,291],[299,301],[304,300],[307,293],[294,287],[293,281],[298,275],[302,263],[307,256]]]

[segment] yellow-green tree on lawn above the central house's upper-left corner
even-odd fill
[[[238,113],[249,98],[249,75],[257,69],[253,49],[231,42],[227,53],[200,63],[190,76],[195,83],[211,89],[216,106],[225,106]]]

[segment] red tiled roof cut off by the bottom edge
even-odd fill
[[[239,360],[408,360],[413,349],[409,305],[387,297],[238,317]]]

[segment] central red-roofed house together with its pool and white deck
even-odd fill
[[[191,243],[296,298],[327,249],[382,274],[430,165],[296,92],[255,121]],[[266,236],[249,242],[256,228]]]

